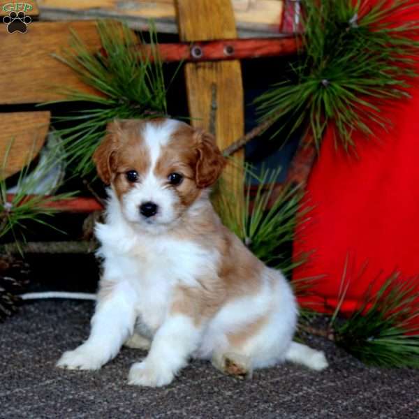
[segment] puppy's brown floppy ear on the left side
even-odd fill
[[[105,138],[103,138],[93,154],[96,170],[105,184],[110,184],[112,179],[111,159],[112,154],[115,154],[118,148],[120,128],[119,121],[110,122],[106,126]]]

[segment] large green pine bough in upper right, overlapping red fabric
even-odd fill
[[[288,80],[256,99],[260,119],[289,132],[304,126],[318,148],[325,128],[335,142],[354,146],[360,131],[388,129],[382,105],[409,96],[418,75],[419,22],[399,22],[418,3],[411,0],[302,0],[301,47]],[[416,3],[416,4],[415,4]]]

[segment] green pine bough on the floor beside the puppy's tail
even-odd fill
[[[356,283],[362,281],[367,263]],[[349,316],[341,306],[351,287],[348,258],[341,275],[339,302],[325,328],[313,328],[316,314],[304,310],[300,331],[320,335],[335,342],[367,365],[377,367],[419,368],[419,284],[418,277],[402,278],[392,272],[381,279],[378,275],[362,296],[362,302]],[[378,291],[376,281],[380,280]]]

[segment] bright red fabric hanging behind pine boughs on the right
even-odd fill
[[[409,93],[412,98],[383,111],[393,127],[379,134],[379,143],[353,135],[358,158],[336,148],[328,129],[307,185],[307,205],[314,208],[297,229],[294,249],[295,256],[313,251],[294,279],[323,277],[300,304],[335,309],[346,260],[351,284],[343,311],[353,311],[371,284],[376,290],[395,270],[419,274],[419,88]]]

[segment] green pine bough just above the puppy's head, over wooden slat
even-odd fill
[[[75,172],[86,176],[94,171],[91,156],[105,135],[106,124],[113,119],[159,117],[166,115],[167,88],[163,63],[157,49],[156,31],[150,30],[151,57],[138,49],[141,40],[125,24],[98,21],[100,51],[92,52],[72,32],[70,47],[55,57],[75,71],[80,80],[96,89],[99,95],[73,89],[59,89],[61,101],[81,102],[80,110],[54,123],[65,123],[57,129],[64,139],[66,161],[73,163]]]

